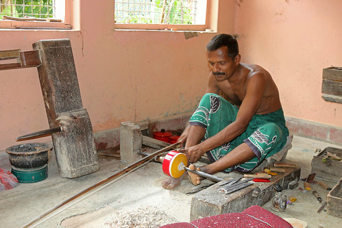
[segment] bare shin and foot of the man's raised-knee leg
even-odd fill
[[[190,125],[188,131],[188,138],[185,143],[185,149],[188,147],[192,147],[196,144],[199,144],[199,142],[201,142],[201,140],[204,138],[204,134],[206,134],[205,128],[196,125]],[[167,177],[166,179],[164,179],[164,181],[162,181],[162,188],[173,189],[177,186],[180,186],[180,183],[182,182],[184,175],[186,175],[186,172],[184,172],[182,177],[179,178]]]

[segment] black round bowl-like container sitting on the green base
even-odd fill
[[[49,162],[52,147],[43,142],[14,145],[5,149],[10,164],[16,168],[37,168]]]

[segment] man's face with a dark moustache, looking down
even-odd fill
[[[215,51],[207,51],[208,67],[217,81],[229,79],[235,72],[239,61],[228,56],[228,47],[220,47]]]

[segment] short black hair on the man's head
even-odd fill
[[[239,54],[239,45],[236,41],[236,38],[229,34],[219,34],[214,36],[208,45],[206,45],[206,49],[208,51],[215,51],[220,47],[228,47],[228,56],[232,59]]]

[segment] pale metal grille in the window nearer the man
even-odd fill
[[[195,25],[197,1],[203,0],[116,0],[116,23]]]

